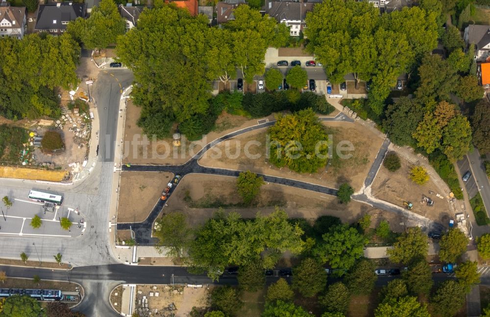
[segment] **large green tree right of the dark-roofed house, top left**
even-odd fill
[[[80,39],[84,47],[90,50],[105,49],[116,43],[125,29],[126,22],[119,14],[114,0],[101,0],[92,9],[88,19],[77,18],[68,24],[68,32]]]

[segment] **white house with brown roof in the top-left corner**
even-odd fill
[[[0,3],[0,36],[22,39],[25,33],[25,6],[13,7],[2,0]]]

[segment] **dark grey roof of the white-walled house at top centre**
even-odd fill
[[[266,0],[265,11],[278,22],[304,21],[306,12],[312,11],[315,3]]]

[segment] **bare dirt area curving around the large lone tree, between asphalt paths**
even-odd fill
[[[268,163],[265,158],[266,129],[245,133],[220,143],[206,152],[199,160],[199,164],[242,171],[250,170],[335,188],[348,182],[356,190],[361,188],[383,140],[361,125],[344,122],[324,122],[324,124],[327,132],[333,136],[333,159],[326,171],[325,168],[321,168],[315,174],[300,174],[287,167],[281,169]],[[244,153],[247,142],[254,140],[260,145],[251,146],[249,153],[260,154],[258,159],[246,157]],[[337,145],[341,141],[348,141],[354,146],[354,151],[343,152],[351,153],[351,158],[340,159],[337,156]]]

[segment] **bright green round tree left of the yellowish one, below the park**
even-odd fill
[[[348,270],[354,266],[357,259],[364,255],[364,246],[368,239],[347,224],[330,228],[322,236],[323,241],[315,245],[314,254],[322,263],[329,263],[333,268]]]

